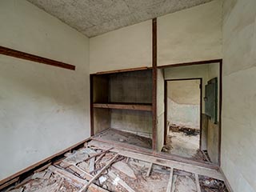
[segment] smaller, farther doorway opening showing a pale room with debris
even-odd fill
[[[166,135],[162,151],[201,157],[202,78],[165,81]]]

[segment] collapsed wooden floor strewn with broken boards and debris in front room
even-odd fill
[[[226,192],[218,170],[91,140],[6,191]]]

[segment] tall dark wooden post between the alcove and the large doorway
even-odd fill
[[[158,78],[158,55],[157,55],[157,18],[152,19],[152,149],[157,150],[157,78]]]

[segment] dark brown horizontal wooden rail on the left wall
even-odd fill
[[[22,58],[31,62],[40,62],[50,66],[58,66],[67,70],[75,70],[75,66],[67,64],[65,62],[58,62],[50,58],[42,58],[34,54],[28,54],[19,50],[12,50],[4,46],[0,46],[0,54],[4,54],[14,58]]]

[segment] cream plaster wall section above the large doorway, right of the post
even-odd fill
[[[158,66],[222,58],[222,0],[158,18]]]

